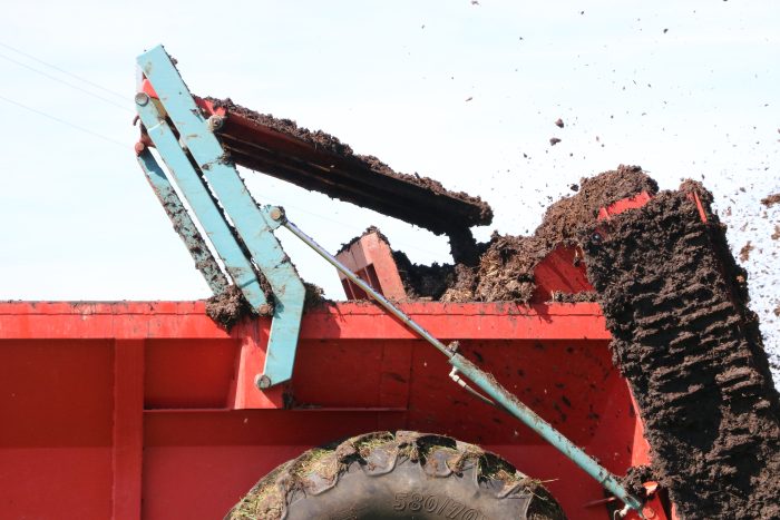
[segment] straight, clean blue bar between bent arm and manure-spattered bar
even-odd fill
[[[241,249],[233,232],[225,222],[220,208],[208,193],[203,180],[193,168],[178,139],[160,115],[156,104],[145,94],[136,96],[136,110],[146,130],[173,175],[174,180],[195,212],[208,239],[225,263],[227,273],[241,288],[253,307],[267,304],[252,264]]]

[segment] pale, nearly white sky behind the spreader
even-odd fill
[[[135,57],[164,43],[197,94],[482,196],[496,219],[480,238],[533,230],[547,197],[621,163],[665,188],[704,175],[721,213],[732,206],[732,245],[761,245],[748,267],[767,334],[780,216],[757,200],[780,190],[779,32],[777,1],[4,6],[0,297],[208,295],[133,155]],[[448,259],[440,237],[246,175],[260,202],[284,205],[330,249],[377,224],[413,261]],[[340,296],[328,266],[285,244],[306,279]]]

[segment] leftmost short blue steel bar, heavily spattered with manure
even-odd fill
[[[182,199],[178,198],[178,194],[176,194],[165,171],[163,171],[163,168],[159,167],[148,149],[138,154],[138,164],[144,174],[146,174],[146,180],[149,181],[152,189],[157,195],[163,209],[170,218],[174,229],[182,237],[184,245],[195,261],[195,267],[206,278],[206,283],[214,294],[224,293],[228,286],[227,278],[220,268],[220,264],[214,259],[201,232],[197,230],[195,223],[182,204]]]

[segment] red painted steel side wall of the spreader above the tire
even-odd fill
[[[403,310],[622,474],[641,421],[596,304]],[[252,386],[267,320],[230,334],[201,302],[0,303],[2,518],[220,518],[276,464],[361,432],[450,434],[548,481],[573,519],[599,487],[536,434],[462,393],[446,360],[373,305],[308,313],[285,389]],[[287,406],[290,409],[283,409]]]

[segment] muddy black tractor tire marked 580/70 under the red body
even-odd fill
[[[226,520],[560,520],[549,492],[504,459],[448,436],[377,432],[285,462]]]

